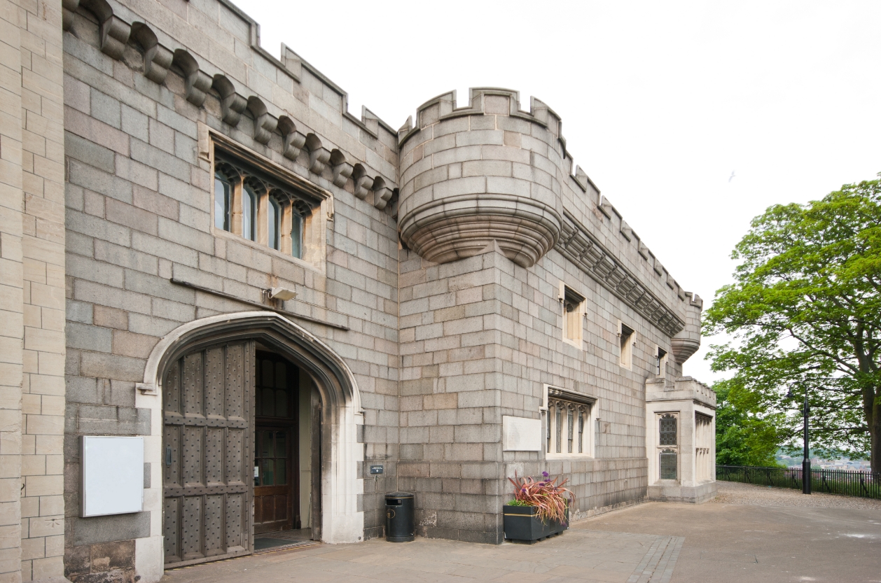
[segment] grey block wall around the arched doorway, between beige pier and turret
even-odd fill
[[[162,533],[159,513],[78,517],[78,437],[156,434],[161,413],[136,406],[135,383],[159,338],[197,318],[253,309],[173,277],[267,307],[263,289],[296,289],[284,308],[312,319],[294,318],[357,380],[365,410],[359,471],[369,476],[370,461],[397,459],[397,243],[387,204],[394,132],[369,112],[353,118],[345,93],[289,49],[281,63],[259,48],[256,24],[232,4],[131,2],[112,17],[100,7],[81,3],[64,34],[65,572],[74,581],[132,580],[136,542]],[[116,32],[100,34],[96,19]],[[174,55],[171,72],[158,69],[163,51]],[[213,228],[209,131],[332,194],[316,211],[326,262]],[[146,461],[145,496],[161,499],[160,461]],[[394,480],[394,463],[366,480],[366,536],[381,534],[381,492]],[[157,568],[137,574],[158,578]]]

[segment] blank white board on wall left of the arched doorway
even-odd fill
[[[144,438],[80,442],[80,516],[139,513],[144,507]]]

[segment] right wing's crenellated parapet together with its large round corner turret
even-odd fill
[[[398,129],[399,229],[419,255],[448,262],[496,240],[529,267],[556,248],[669,336],[690,329],[687,308],[700,299],[574,166],[551,107],[533,97],[523,111],[519,92],[475,87],[467,106],[442,93],[413,120]]]

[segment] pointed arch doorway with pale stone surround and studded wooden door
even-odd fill
[[[358,390],[307,330],[267,312],[190,322],[157,344],[137,388],[159,438],[145,459],[161,467],[138,571],[246,555],[255,533],[298,519],[316,540],[361,540]]]

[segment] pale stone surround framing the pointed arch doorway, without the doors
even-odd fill
[[[164,567],[162,544],[162,380],[167,365],[187,351],[227,341],[254,339],[278,351],[312,377],[322,399],[322,542],[359,542],[364,513],[358,510],[363,491],[358,461],[359,424],[364,423],[354,375],[326,343],[284,316],[272,312],[220,314],[175,328],[153,348],[137,383],[136,406],[149,409],[151,433],[144,438],[144,461],[151,463],[144,511],[151,512],[150,536],[136,539],[137,574],[142,583],[158,581]]]

